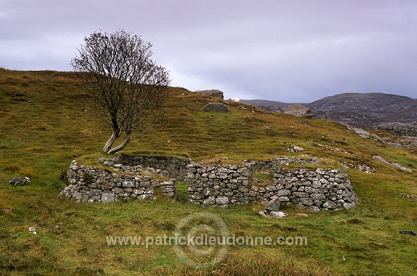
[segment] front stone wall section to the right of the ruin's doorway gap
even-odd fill
[[[272,196],[288,205],[312,212],[320,209],[350,209],[356,205],[347,173],[332,169],[280,169],[273,167],[273,183],[265,187],[252,184],[251,175],[259,166],[188,165],[189,201],[202,205],[268,202]]]

